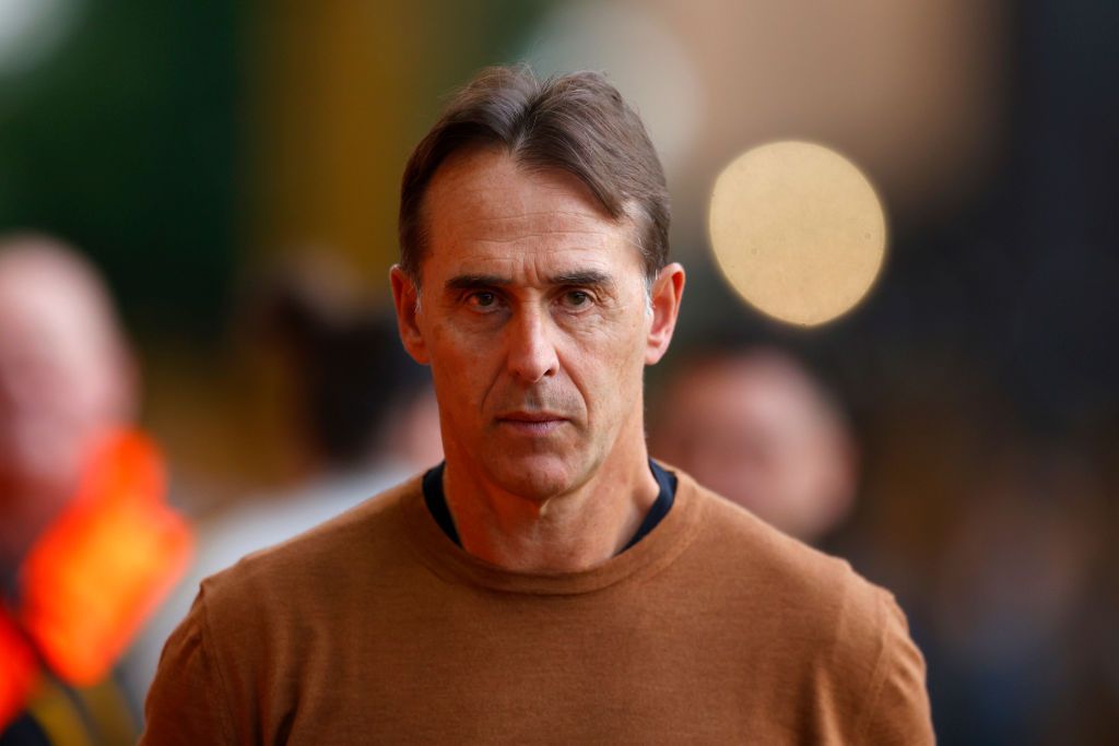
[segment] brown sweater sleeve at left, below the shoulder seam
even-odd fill
[[[168,638],[144,705],[140,744],[234,744],[228,698],[206,624],[203,594]]]

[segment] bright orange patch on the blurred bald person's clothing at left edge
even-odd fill
[[[19,623],[64,681],[104,678],[186,570],[192,538],[163,502],[154,444],[116,432],[20,569]]]

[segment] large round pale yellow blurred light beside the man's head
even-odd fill
[[[858,304],[886,249],[871,182],[843,155],[808,142],[773,142],[732,161],[715,180],[708,228],[739,295],[805,327]]]

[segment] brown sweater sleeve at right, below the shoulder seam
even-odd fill
[[[905,614],[880,591],[882,645],[872,678],[859,743],[934,744],[924,659],[910,639]]]

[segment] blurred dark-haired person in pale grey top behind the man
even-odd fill
[[[203,578],[443,457],[430,372],[405,353],[391,314],[354,299],[347,266],[302,257],[263,285],[250,301],[250,334],[288,379],[303,476],[199,523],[195,564],[129,653],[130,686],[140,696]]]

